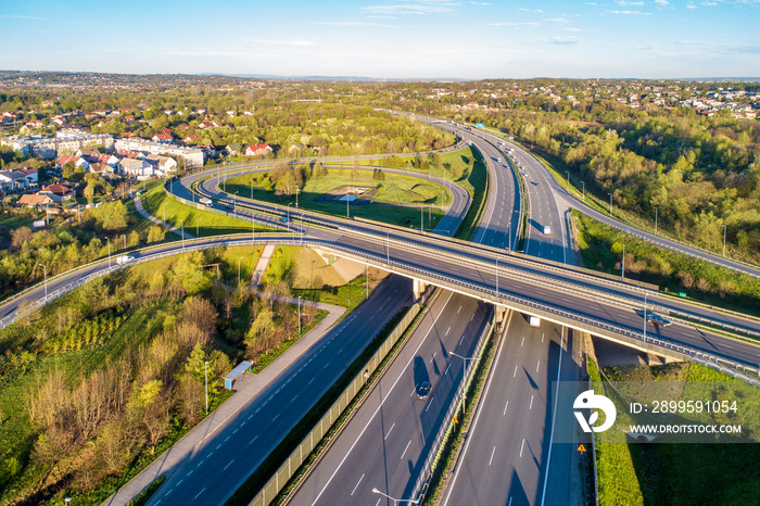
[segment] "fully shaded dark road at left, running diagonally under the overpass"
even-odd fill
[[[335,382],[389,315],[410,302],[409,293],[409,280],[390,278],[195,448],[149,504],[223,504]]]

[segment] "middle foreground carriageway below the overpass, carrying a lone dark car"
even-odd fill
[[[490,315],[482,303],[442,292],[289,504],[375,504],[375,486],[408,497],[463,379],[463,360],[451,352],[471,356]],[[419,400],[423,380],[432,388]]]

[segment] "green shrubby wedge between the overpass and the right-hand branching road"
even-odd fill
[[[658,248],[573,211],[583,264],[620,275],[625,245],[625,278],[646,281],[673,295],[760,316],[760,281],[709,262]]]

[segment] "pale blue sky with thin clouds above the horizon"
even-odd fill
[[[0,0],[0,69],[760,76],[760,0]]]

